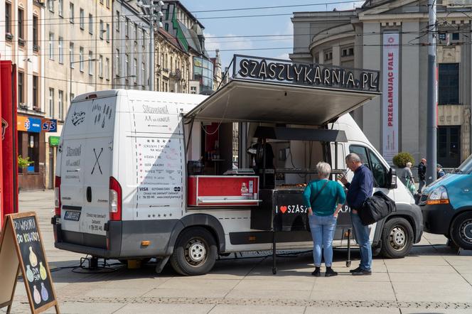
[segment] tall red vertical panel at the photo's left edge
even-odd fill
[[[0,61],[1,88],[1,208],[2,216],[18,212],[18,160],[16,131],[16,67]]]

